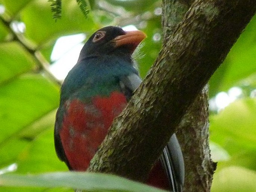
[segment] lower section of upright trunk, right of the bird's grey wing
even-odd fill
[[[209,149],[208,86],[197,96],[178,127],[185,162],[184,192],[209,192],[216,163]]]

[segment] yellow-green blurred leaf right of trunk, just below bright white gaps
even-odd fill
[[[240,99],[210,116],[210,140],[230,158],[218,167],[239,165],[256,170],[256,99]],[[217,157],[218,158],[218,157]]]

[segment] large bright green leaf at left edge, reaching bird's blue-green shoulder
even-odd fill
[[[58,103],[58,87],[41,75],[23,75],[0,86],[0,167],[12,164],[28,145],[28,134],[22,131],[30,127],[30,136],[38,133],[33,122]]]

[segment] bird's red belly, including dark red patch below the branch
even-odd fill
[[[109,97],[93,97],[87,103],[78,99],[66,103],[67,112],[64,115],[60,137],[72,170],[87,170],[113,119],[121,113],[126,104],[126,97],[119,92],[113,92]],[[168,179],[160,161],[149,173],[147,184],[169,189]]]

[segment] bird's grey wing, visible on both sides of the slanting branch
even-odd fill
[[[141,84],[142,80],[137,74],[130,74],[121,78],[121,83],[133,93]],[[184,184],[185,167],[181,147],[175,134],[165,146],[160,157],[166,171],[173,192],[181,192]]]

